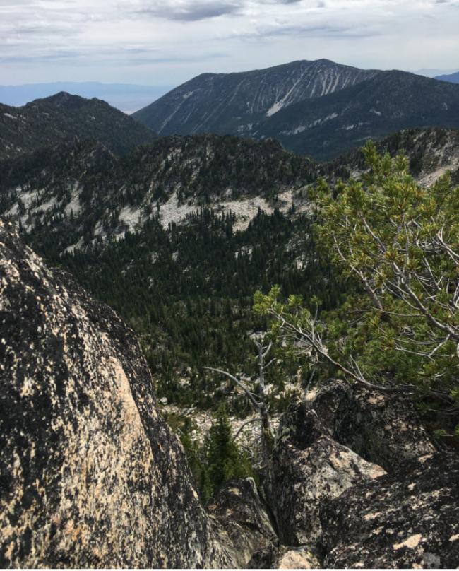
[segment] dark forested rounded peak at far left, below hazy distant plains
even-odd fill
[[[0,103],[0,159],[46,146],[92,137],[117,154],[155,140],[150,129],[105,101],[56,93],[23,107]]]

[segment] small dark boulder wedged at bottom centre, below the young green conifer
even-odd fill
[[[227,531],[237,567],[247,567],[254,552],[277,541],[253,478],[230,480],[217,489],[208,505]]]

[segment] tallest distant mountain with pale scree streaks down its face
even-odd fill
[[[327,59],[242,73],[203,73],[133,114],[158,134],[247,134],[285,107],[334,93],[377,71]]]

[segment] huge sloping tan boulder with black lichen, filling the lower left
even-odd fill
[[[0,222],[0,567],[232,567],[229,544],[132,332]]]

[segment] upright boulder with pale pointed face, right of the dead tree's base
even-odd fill
[[[292,403],[280,420],[266,477],[266,498],[287,546],[314,545],[322,529],[324,500],[385,471],[335,442],[304,402]]]

